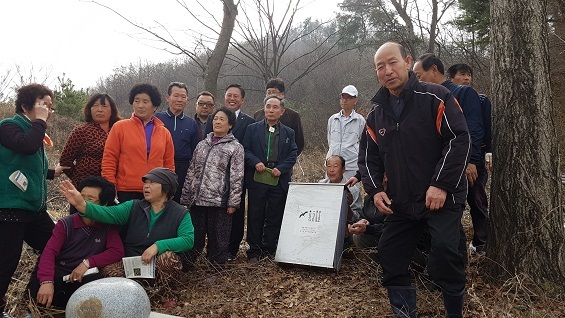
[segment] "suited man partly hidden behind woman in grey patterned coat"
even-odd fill
[[[245,103],[245,90],[239,84],[231,84],[226,88],[226,93],[224,95],[225,106],[235,113],[236,121],[235,126],[232,127],[231,132],[235,139],[243,144],[243,137],[245,136],[245,131],[247,126],[253,124],[255,120],[249,115],[241,111],[241,106]],[[213,123],[211,116],[208,117],[206,123],[206,134],[213,131]],[[247,178],[247,177],[244,177]],[[233,262],[237,257],[237,252],[239,251],[239,244],[243,239],[243,232],[245,228],[245,189],[246,184],[242,187],[241,191],[241,202],[239,203],[239,209],[235,210],[232,215],[232,227],[230,235],[230,246],[228,262]]]

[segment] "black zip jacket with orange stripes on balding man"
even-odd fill
[[[373,97],[373,109],[359,144],[359,170],[368,195],[384,191],[391,209],[410,218],[426,213],[426,191],[447,191],[445,205],[464,204],[465,168],[470,137],[461,107],[441,85],[421,83],[413,72],[399,98],[404,110],[396,118],[382,87]]]

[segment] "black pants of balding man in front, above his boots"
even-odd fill
[[[422,231],[429,228],[431,237],[428,273],[448,293],[465,288],[464,257],[459,251],[462,205],[443,207],[428,212],[423,219],[413,220],[395,211],[385,220],[379,241],[379,260],[383,269],[383,286],[411,285],[408,266]]]

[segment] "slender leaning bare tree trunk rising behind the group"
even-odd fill
[[[204,74],[204,88],[214,95],[216,95],[218,91],[218,75],[220,74],[220,69],[224,63],[224,58],[226,57],[230,45],[231,35],[235,26],[235,18],[237,16],[237,4],[234,3],[234,0],[222,0],[222,2],[224,4],[222,30],[214,46],[214,51],[212,51],[212,54],[208,58],[206,73]]]

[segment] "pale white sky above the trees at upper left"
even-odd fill
[[[242,0],[246,1],[246,0]],[[276,1],[278,6],[281,2]],[[175,0],[99,0],[127,18],[147,26],[163,24],[169,30],[197,28],[198,23]],[[196,0],[185,0],[198,8]],[[221,21],[219,0],[200,0]],[[329,19],[340,0],[302,0],[296,21],[309,14]],[[281,5],[282,7],[282,5]],[[114,68],[137,62],[161,62],[175,56],[110,10],[85,0],[1,0],[0,79],[16,66],[25,78],[54,87],[63,73],[78,88],[96,85]],[[205,13],[202,13],[205,15]],[[238,17],[241,15],[238,15]],[[211,19],[204,16],[205,19]],[[188,43],[188,42],[187,42]],[[33,71],[30,71],[33,69]],[[19,81],[16,81],[19,83]]]

